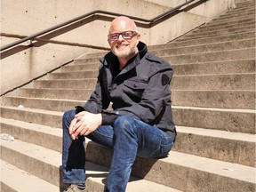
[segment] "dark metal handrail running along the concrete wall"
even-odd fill
[[[13,46],[16,46],[16,45],[18,45],[18,44],[24,43],[24,42],[26,42],[26,41],[28,41],[28,40],[34,40],[37,36],[42,36],[42,35],[47,34],[47,33],[51,32],[51,31],[53,31],[53,30],[56,30],[57,28],[65,27],[65,26],[67,26],[68,24],[71,24],[71,23],[76,22],[76,21],[78,21],[78,20],[82,20],[82,19],[84,19],[84,18],[86,18],[86,17],[95,15],[95,14],[97,14],[97,13],[98,13],[98,14],[99,14],[99,13],[101,13],[101,14],[107,14],[107,15],[111,15],[111,16],[122,16],[122,15],[123,15],[123,16],[130,17],[132,20],[138,20],[138,21],[142,21],[142,22],[148,22],[149,25],[151,25],[152,23],[156,22],[156,20],[160,20],[160,19],[164,18],[165,16],[170,15],[172,12],[176,12],[176,11],[180,10],[181,7],[183,7],[183,6],[187,5],[187,4],[190,4],[191,2],[194,2],[194,1],[196,1],[196,0],[188,0],[188,1],[186,1],[185,3],[180,4],[180,5],[176,6],[176,7],[174,7],[174,8],[171,9],[170,11],[164,12],[164,13],[162,13],[162,14],[160,14],[160,15],[158,15],[158,16],[156,16],[156,17],[150,19],[150,20],[141,19],[141,18],[138,18],[138,17],[133,17],[133,16],[129,16],[129,15],[124,15],[124,14],[120,14],[120,13],[116,13],[116,12],[102,11],[102,10],[96,10],[96,11],[88,12],[88,13],[83,14],[83,15],[81,15],[81,16],[79,16],[79,17],[76,17],[76,18],[74,18],[74,19],[72,19],[72,20],[68,20],[68,21],[65,21],[65,22],[63,22],[63,23],[60,23],[59,25],[53,26],[52,28],[47,28],[47,29],[45,29],[45,30],[43,30],[43,31],[40,31],[40,32],[38,32],[38,33],[36,33],[36,34],[33,34],[33,35],[31,35],[31,36],[24,37],[24,38],[22,38],[22,39],[20,39],[20,40],[18,40],[18,41],[16,41],[16,42],[13,42],[12,44],[6,44],[6,45],[4,45],[4,46],[2,46],[2,47],[0,48],[0,51],[3,52],[3,51],[6,50],[6,49],[10,49],[10,48],[12,48]],[[206,2],[206,1],[208,1],[208,0],[199,0],[199,2],[200,2],[200,1]]]

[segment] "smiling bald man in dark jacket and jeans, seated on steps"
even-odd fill
[[[63,116],[63,182],[76,184],[67,191],[86,190],[84,136],[113,149],[108,192],[125,191],[136,156],[167,156],[176,137],[170,64],[147,51],[124,16],[112,21],[108,44],[90,100]]]

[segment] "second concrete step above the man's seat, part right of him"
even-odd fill
[[[255,109],[172,106],[172,114],[177,126],[255,134]]]

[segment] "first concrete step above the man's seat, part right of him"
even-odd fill
[[[255,167],[255,134],[183,126],[176,128],[178,137],[174,151]]]

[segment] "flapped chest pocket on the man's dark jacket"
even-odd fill
[[[123,86],[123,99],[126,100],[127,97],[130,100],[139,102],[142,96],[142,93],[146,89],[148,82],[139,82],[139,81],[124,81]]]

